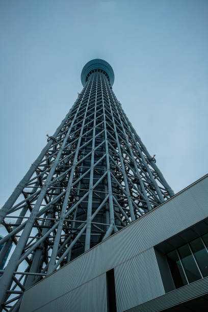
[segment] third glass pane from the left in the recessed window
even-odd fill
[[[203,277],[208,276],[208,253],[201,239],[190,242],[191,249],[196,258],[197,264]]]

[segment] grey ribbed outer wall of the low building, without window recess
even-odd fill
[[[25,291],[23,311],[107,311],[114,267],[117,311],[165,294],[153,246],[208,217],[208,176]]]

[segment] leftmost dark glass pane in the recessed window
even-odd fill
[[[183,268],[178,259],[176,250],[173,250],[167,254],[167,260],[168,260],[170,272],[173,277],[175,288],[179,288],[188,284]]]

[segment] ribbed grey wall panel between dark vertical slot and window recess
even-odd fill
[[[117,311],[164,294],[153,248],[115,268]]]

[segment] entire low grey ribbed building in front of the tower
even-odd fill
[[[47,276],[20,312],[207,311],[207,188],[208,175]]]

